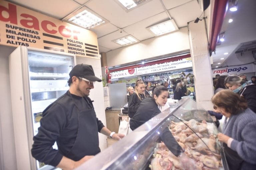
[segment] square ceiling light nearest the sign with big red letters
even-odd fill
[[[84,27],[88,30],[102,23],[105,23],[105,21],[103,21],[101,18],[97,17],[96,15],[92,14],[87,10],[83,10],[82,12],[69,18],[68,21],[81,27]]]

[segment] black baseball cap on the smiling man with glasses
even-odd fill
[[[95,76],[94,71],[91,65],[87,64],[77,64],[69,73],[70,78],[73,76],[76,77],[83,77],[90,81],[98,81],[101,82],[102,80]]]

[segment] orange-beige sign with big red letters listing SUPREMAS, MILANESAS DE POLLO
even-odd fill
[[[3,0],[0,0],[0,44],[99,57],[95,33]]]

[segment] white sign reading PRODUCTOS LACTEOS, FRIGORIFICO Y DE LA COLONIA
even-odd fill
[[[153,64],[153,65],[138,67],[136,69],[137,69],[137,75],[142,75],[142,74],[151,74],[151,73],[157,73],[157,72],[177,70],[177,69],[188,68],[188,67],[192,67],[191,57],[179,59],[171,62],[165,62],[161,64]]]

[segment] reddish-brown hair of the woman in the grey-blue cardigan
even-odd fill
[[[226,112],[237,115],[240,111],[247,109],[247,102],[243,97],[231,90],[221,90],[212,97],[212,103],[224,108]]]

